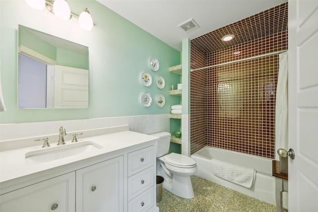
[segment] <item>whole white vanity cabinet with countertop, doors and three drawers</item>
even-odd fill
[[[32,169],[33,172],[5,181],[4,177],[19,170],[9,165],[1,167],[0,212],[159,210],[156,206],[156,140],[153,137],[124,131],[87,140],[102,148],[87,155],[79,154],[30,166],[24,158],[30,150],[19,150],[14,158],[20,157],[21,162],[14,166],[26,171]],[[36,148],[42,150],[41,147]],[[12,152],[0,154],[1,160],[9,161]],[[54,166],[50,167],[52,164]],[[3,171],[8,174],[3,174]]]

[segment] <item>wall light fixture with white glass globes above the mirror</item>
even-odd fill
[[[50,12],[55,14],[58,18],[69,20],[73,16],[79,18],[79,26],[87,31],[93,28],[93,19],[87,8],[77,15],[71,12],[70,6],[66,0],[25,0],[25,2],[33,9],[42,10],[46,7]]]

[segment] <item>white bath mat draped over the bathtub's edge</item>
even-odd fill
[[[256,177],[256,170],[227,163],[217,159],[211,159],[212,173],[232,183],[250,188]]]

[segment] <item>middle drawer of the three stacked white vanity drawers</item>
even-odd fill
[[[128,178],[128,201],[154,185],[154,166]]]

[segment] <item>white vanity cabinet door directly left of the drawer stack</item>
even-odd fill
[[[76,211],[123,211],[123,166],[123,156],[119,156],[77,170]]]

